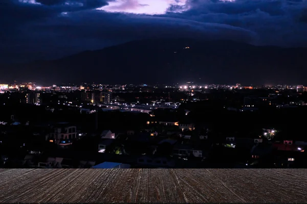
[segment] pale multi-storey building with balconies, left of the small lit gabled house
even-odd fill
[[[51,130],[49,137],[50,142],[54,142],[58,145],[66,146],[67,143],[71,143],[72,140],[77,138],[77,128],[75,125],[69,123],[57,123]]]

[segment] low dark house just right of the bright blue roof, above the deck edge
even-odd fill
[[[143,167],[174,167],[175,162],[173,159],[168,159],[166,157],[148,157],[142,156],[137,159],[137,165]]]

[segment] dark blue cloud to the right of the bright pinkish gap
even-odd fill
[[[307,1],[199,1],[189,2],[183,13],[167,16],[202,22],[225,23],[257,33],[257,44],[307,46],[307,24],[304,23]]]

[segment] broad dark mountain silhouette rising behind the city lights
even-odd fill
[[[6,65],[2,78],[41,83],[304,84],[306,59],[307,48],[155,39],[85,51],[53,61]]]

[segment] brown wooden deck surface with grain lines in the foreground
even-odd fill
[[[0,202],[306,202],[307,169],[0,169]]]

